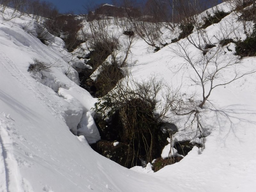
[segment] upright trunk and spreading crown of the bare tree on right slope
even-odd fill
[[[212,90],[221,85],[227,85],[246,75],[256,72],[256,69],[241,71],[238,64],[242,60],[238,56],[224,55],[221,46],[212,48],[199,58],[194,58],[189,52],[187,42],[178,42],[173,52],[182,58],[195,72],[195,77],[190,76],[193,83],[200,85],[202,89],[202,100],[199,107],[203,108],[205,102],[210,97]],[[225,77],[228,71],[232,77]]]

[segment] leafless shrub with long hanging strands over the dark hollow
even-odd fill
[[[125,132],[124,135],[121,133],[124,141],[128,142],[134,151],[138,151],[133,154],[134,159],[141,158],[151,162],[159,152],[159,149],[156,151],[159,141],[157,134],[161,134],[158,124],[169,112],[171,105],[168,101],[161,103],[158,100],[158,93],[164,87],[163,82],[158,81],[156,76],[140,82],[126,76],[95,104],[94,110],[102,114],[103,118],[112,117],[115,118],[113,124],[121,124],[121,132]]]

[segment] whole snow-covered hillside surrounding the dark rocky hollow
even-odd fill
[[[220,40],[243,41],[244,25],[248,34],[255,29],[252,20],[237,20],[240,13],[231,11],[228,3],[208,12],[216,10],[230,13],[201,32],[193,28],[186,38],[179,39],[184,28],[161,28],[163,34],[155,46],[138,31],[132,37],[125,35],[127,25],[117,25],[114,18],[101,25],[101,37],[105,34],[106,39],[118,43],[108,46],[112,52],[99,60],[108,64],[118,61],[122,74],[128,74],[119,82],[135,92],[141,92],[136,82],[150,82],[152,77],[155,82],[162,81],[154,100],[158,108],[152,114],[159,115],[161,107],[170,102],[164,98],[170,96],[172,105],[163,118],[178,128],[172,135],[174,142],[202,144],[194,146],[180,162],[153,172],[151,164],[127,169],[89,145],[100,140],[92,108],[104,89],[100,93],[89,90],[91,95],[79,86],[78,72],[92,70],[90,78],[99,91],[97,81],[104,66],[94,66],[92,53],[88,58],[93,51],[86,50],[94,41],[88,38],[70,53],[61,38],[48,33],[35,19],[25,14],[12,17],[13,10],[6,8],[0,16],[0,191],[254,191],[256,59],[241,59],[235,55],[235,43],[221,46]],[[205,13],[197,15],[196,23],[203,22]],[[87,37],[93,35],[92,23],[83,20],[82,24],[80,37],[84,32]],[[207,47],[204,37],[215,46]],[[212,87],[218,86],[202,104],[211,82]],[[115,89],[110,92],[114,93]],[[99,97],[104,99],[104,94]],[[170,146],[164,153],[159,151],[163,158],[169,156]]]

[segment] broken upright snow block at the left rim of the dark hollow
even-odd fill
[[[88,111],[82,116],[77,128],[77,134],[84,135],[89,144],[96,143],[100,140],[100,133],[91,112]]]

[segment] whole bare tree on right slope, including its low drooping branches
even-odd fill
[[[200,37],[199,37],[200,38]],[[209,39],[208,35],[204,34],[205,39]],[[197,132],[204,140],[204,106],[205,103],[212,105],[214,103],[209,100],[212,91],[220,86],[231,84],[232,82],[243,78],[246,75],[250,75],[256,72],[256,69],[241,70],[242,60],[239,57],[224,54],[223,48],[220,45],[209,49],[202,55],[195,55],[191,53],[191,45],[199,47],[200,41],[187,41],[177,42],[175,48],[172,51],[182,59],[183,65],[191,68],[194,74],[190,74],[189,78],[193,84],[198,85],[201,89],[201,100],[198,100],[197,94],[178,94],[178,98],[172,104],[172,112],[178,116],[187,115],[189,117],[189,123],[186,128],[196,127]],[[229,74],[226,76],[225,74]],[[185,97],[185,98],[184,98]],[[217,110],[217,109],[216,109]],[[204,148],[204,145],[203,145]],[[203,149],[202,148],[202,149]]]

